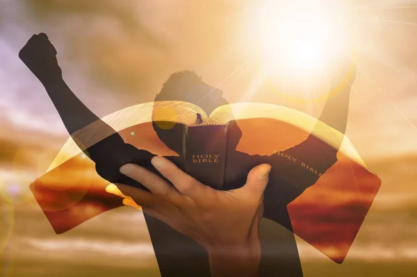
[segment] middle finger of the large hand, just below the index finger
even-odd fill
[[[156,174],[152,173],[151,171],[148,171],[147,169],[143,167],[139,167],[138,165],[133,164],[127,164],[122,167],[120,167],[120,172],[133,180],[138,181],[145,187],[147,187],[148,190],[150,190],[153,194],[161,197],[161,199],[164,199],[165,201],[170,201],[172,203],[178,203],[180,201],[181,194],[174,190],[170,185],[168,185],[163,179]],[[136,190],[139,190],[135,187],[129,187],[126,186],[125,190],[127,192],[135,192],[138,194]],[[142,190],[139,190],[140,192],[143,192]],[[124,194],[124,192],[122,190]],[[131,194],[127,194],[133,198]],[[134,199],[134,198],[133,198]]]

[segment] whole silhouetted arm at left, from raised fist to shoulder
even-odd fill
[[[125,144],[111,126],[76,97],[63,79],[56,54],[56,49],[47,35],[40,33],[28,40],[19,52],[19,58],[44,85],[68,133],[79,148],[95,162],[97,173],[112,183],[120,180],[131,183],[132,181],[120,174],[119,168],[128,162],[151,167],[149,159],[154,155]],[[89,135],[77,133],[89,124],[94,124]]]

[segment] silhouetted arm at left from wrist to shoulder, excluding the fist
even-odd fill
[[[151,153],[125,144],[117,131],[99,119],[72,93],[62,77],[42,80],[42,84],[68,133],[81,151],[96,163],[96,171],[102,178],[117,181],[122,165],[150,161]]]

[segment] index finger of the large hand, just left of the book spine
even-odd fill
[[[161,174],[171,181],[171,183],[186,196],[191,199],[198,199],[204,194],[206,186],[202,185],[195,178],[183,172],[174,163],[166,158],[155,156],[151,160],[152,165],[158,169]]]

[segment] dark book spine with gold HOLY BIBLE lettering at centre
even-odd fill
[[[226,165],[227,126],[184,128],[183,157],[186,172],[204,185],[222,190]]]

